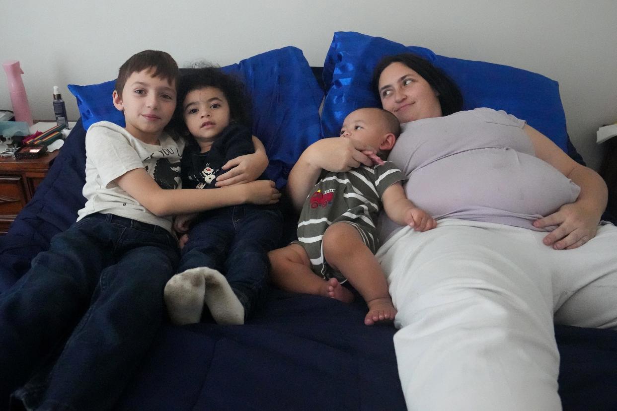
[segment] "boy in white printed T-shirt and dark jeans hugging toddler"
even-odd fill
[[[0,296],[2,407],[62,350],[49,376],[30,380],[19,400],[28,409],[112,409],[163,318],[163,288],[178,262],[168,216],[278,200],[267,181],[173,190],[183,142],[163,130],[176,107],[177,76],[176,62],[160,51],[120,67],[112,97],[126,127],[101,121],[88,129],[86,204],[77,222]]]

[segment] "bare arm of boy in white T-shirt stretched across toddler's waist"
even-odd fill
[[[122,174],[117,184],[152,214],[195,213],[243,203],[274,204],[281,197],[273,181],[252,181],[208,190],[164,190],[144,168]]]

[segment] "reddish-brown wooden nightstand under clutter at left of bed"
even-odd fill
[[[0,235],[6,234],[10,223],[35,195],[58,153],[56,150],[28,160],[0,158]]]

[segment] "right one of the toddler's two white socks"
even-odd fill
[[[220,272],[200,267],[205,280],[204,301],[217,324],[244,324],[244,307]]]

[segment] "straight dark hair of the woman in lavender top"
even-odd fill
[[[463,96],[456,83],[431,62],[411,53],[387,55],[379,60],[379,63],[377,63],[373,70],[373,79],[371,81],[371,88],[379,100],[381,100],[381,96],[379,96],[379,76],[392,63],[402,63],[411,68],[439,93],[438,98],[442,115],[447,116],[462,110]]]

